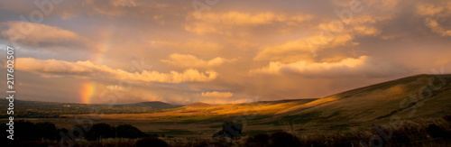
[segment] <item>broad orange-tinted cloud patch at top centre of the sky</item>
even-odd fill
[[[236,27],[256,27],[273,23],[299,27],[299,23],[313,18],[310,14],[274,14],[272,12],[249,14],[230,11],[227,13],[205,13],[198,19],[196,13],[189,15],[185,30],[198,34],[216,33],[231,35]],[[272,28],[276,29],[276,28]],[[239,32],[237,32],[239,33]]]

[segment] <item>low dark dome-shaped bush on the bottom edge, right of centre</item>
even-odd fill
[[[299,146],[298,137],[291,133],[277,132],[271,135],[272,146]]]

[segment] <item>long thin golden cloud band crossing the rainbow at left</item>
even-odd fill
[[[129,79],[143,82],[181,83],[181,82],[207,82],[215,79],[215,71],[202,73],[196,69],[185,69],[183,72],[170,71],[160,73],[157,71],[143,70],[141,73],[128,72],[123,69],[111,69],[97,66],[87,61],[69,62],[64,60],[36,60],[32,58],[18,58],[16,69],[27,71],[39,71],[55,74],[89,75],[115,79]]]

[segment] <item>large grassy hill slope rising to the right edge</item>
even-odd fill
[[[427,87],[431,79],[435,79],[433,82],[435,85],[441,83],[438,78],[445,79],[446,85],[432,90],[430,98],[410,98],[410,95],[418,96],[420,89]],[[297,124],[295,128],[330,130],[354,125],[389,124],[392,116],[401,120],[415,120],[449,115],[451,86],[447,83],[451,83],[451,75],[400,78],[295,106],[262,122],[269,122],[268,124],[288,122]],[[401,106],[400,103],[404,105]]]

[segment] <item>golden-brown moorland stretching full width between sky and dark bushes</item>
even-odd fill
[[[377,129],[374,131],[376,126],[390,128],[394,133],[400,132],[400,135],[409,134],[411,142],[415,137],[419,138],[419,142],[431,139],[431,142],[447,142],[449,138],[446,135],[434,140],[427,129],[434,124],[449,132],[451,125],[446,121],[446,115],[451,115],[449,82],[451,75],[419,75],[318,99],[230,105],[197,103],[189,106],[156,102],[129,106],[19,102],[31,106],[27,106],[27,109],[19,107],[17,111],[24,116],[32,114],[30,112],[40,113],[40,117],[21,119],[32,123],[51,122],[57,128],[70,129],[80,125],[78,118],[87,120],[81,124],[132,124],[144,133],[158,136],[172,145],[187,142],[187,139],[209,142],[214,133],[223,129],[224,122],[243,125],[243,134],[239,135],[239,139],[229,142],[232,144],[244,143],[258,133],[280,131],[296,135],[304,144],[315,141],[323,144],[329,142],[326,144],[331,145],[330,142],[347,140],[359,143],[360,140],[367,142],[373,135],[380,136]],[[60,108],[58,111],[51,108],[46,110],[45,105]],[[69,105],[70,108],[64,107]],[[93,107],[97,107],[96,114],[86,113]],[[69,111],[65,111],[65,108]],[[2,119],[2,123],[5,123],[5,119]]]

